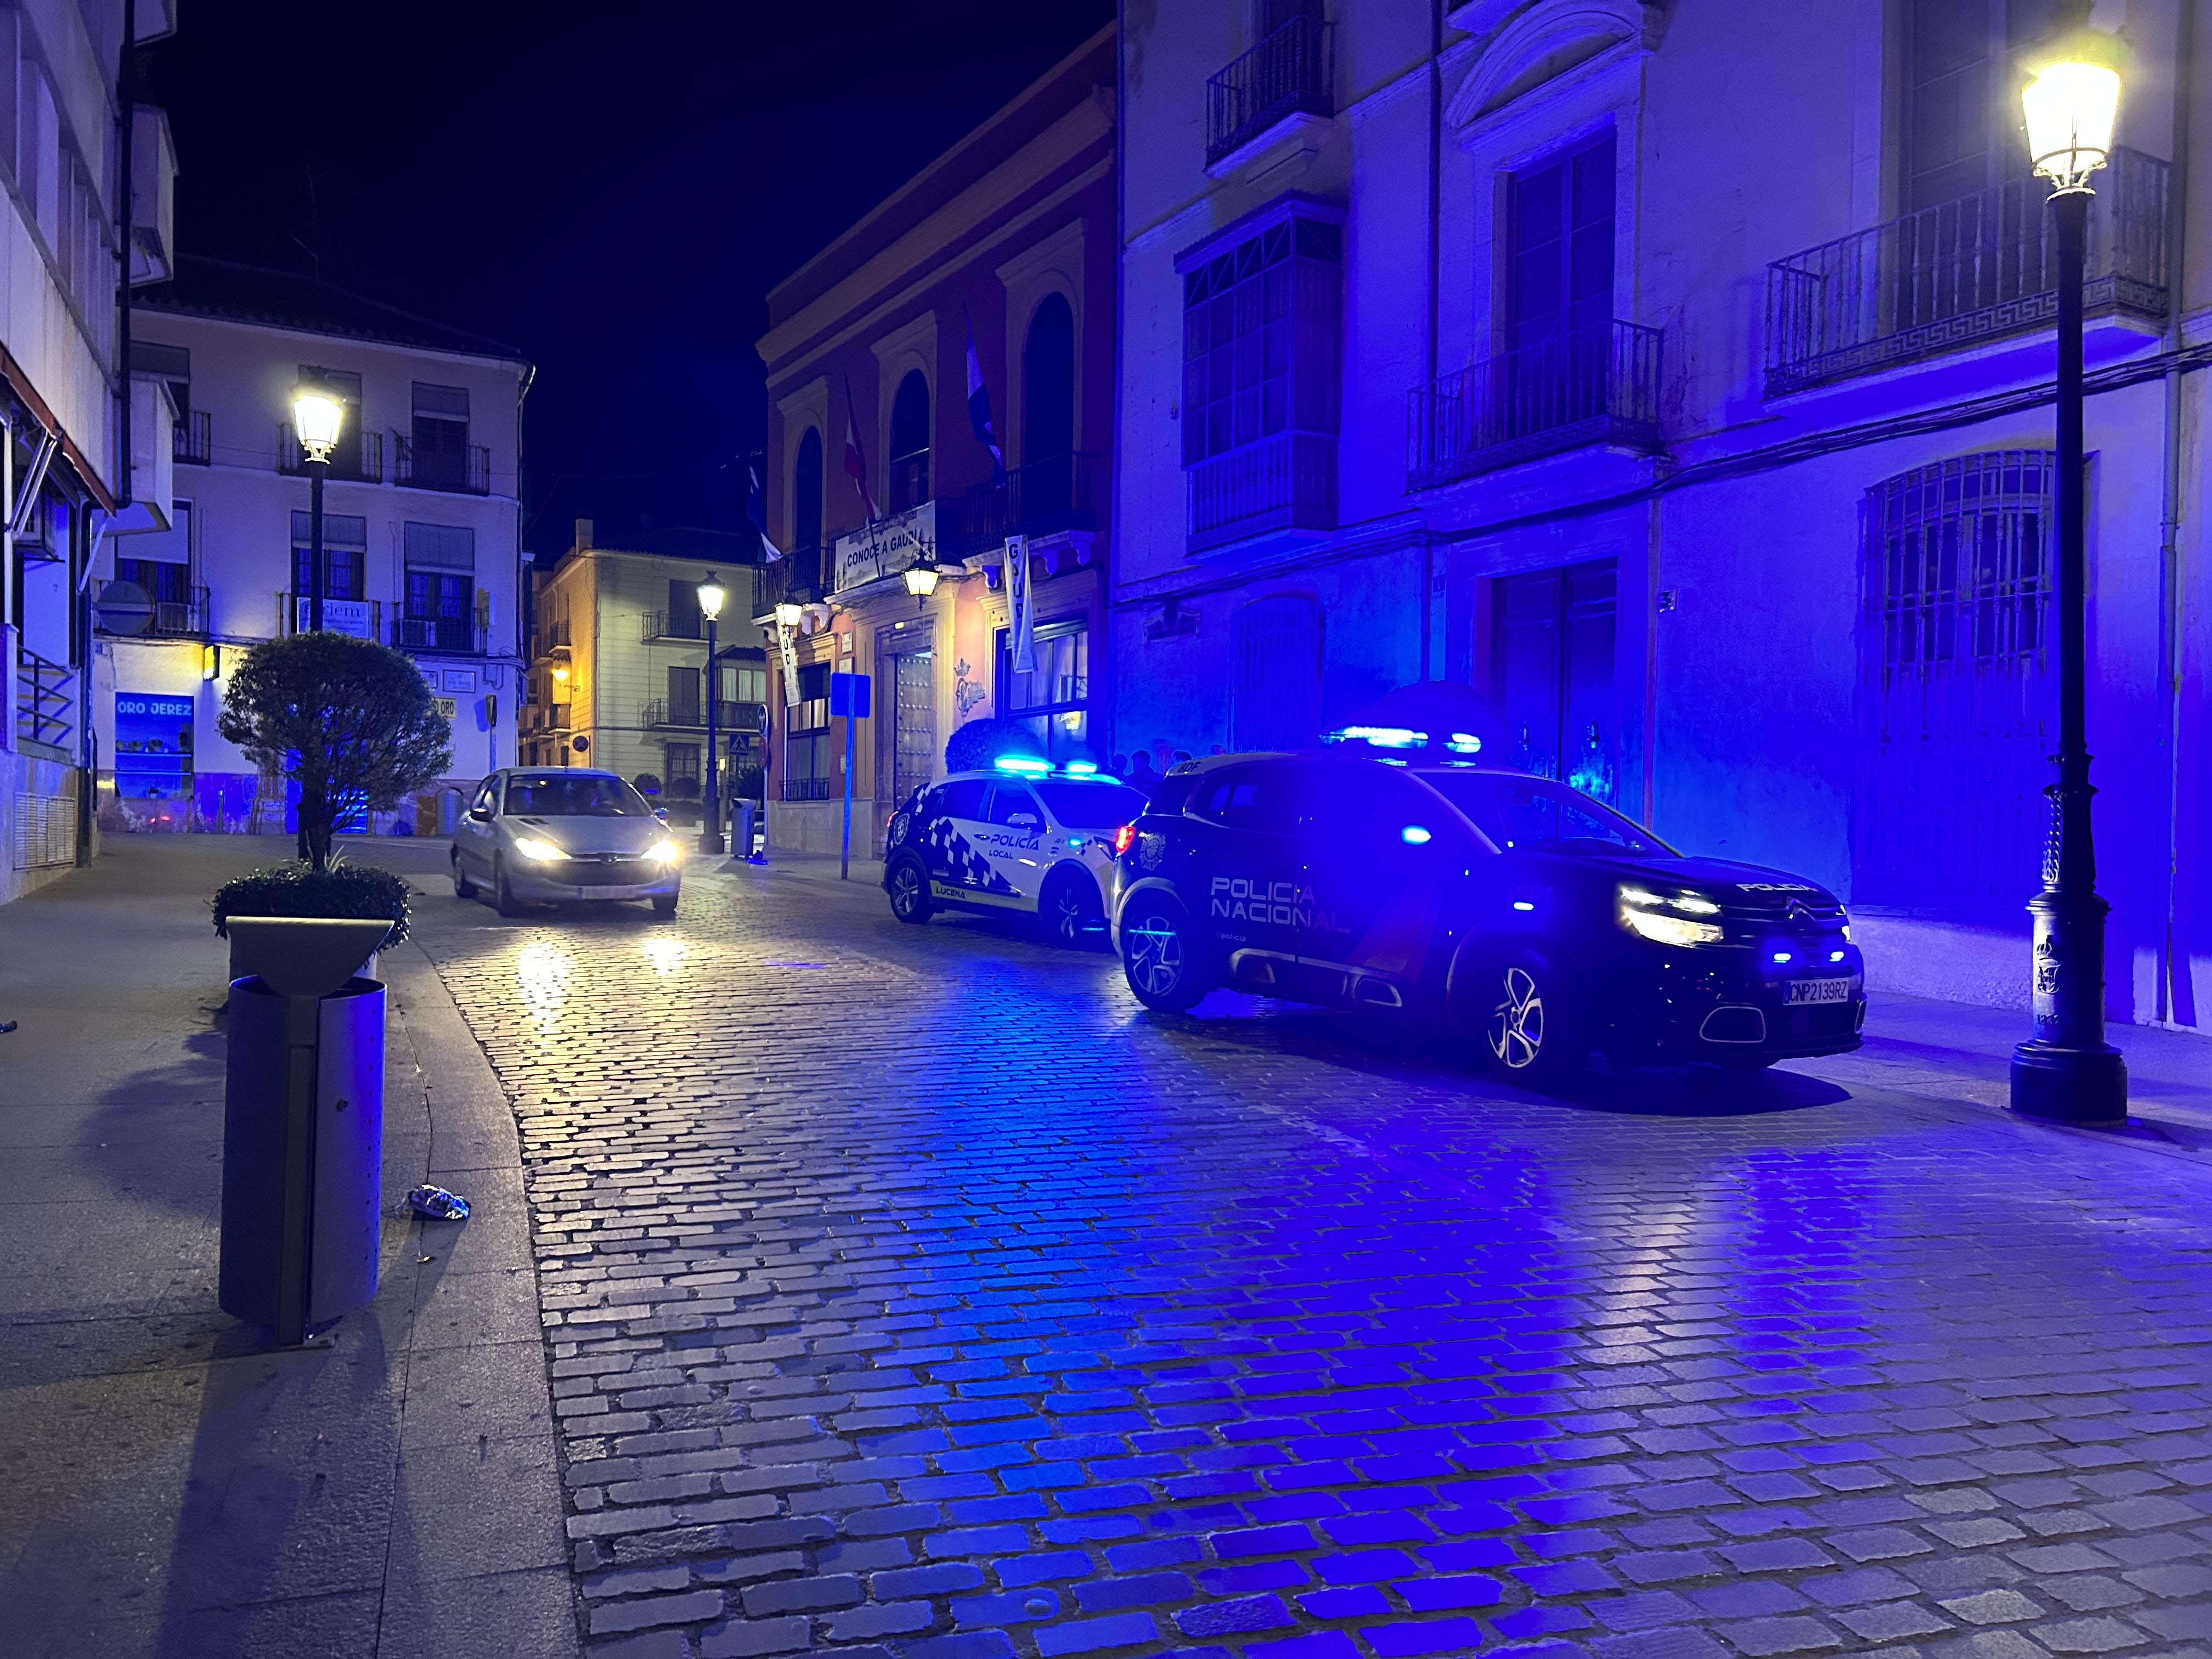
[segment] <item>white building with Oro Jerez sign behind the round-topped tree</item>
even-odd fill
[[[323,491],[325,626],[405,650],[453,721],[451,774],[361,827],[440,834],[515,759],[529,365],[310,276],[204,259],[148,290],[133,363],[175,411],[170,526],[102,564],[117,584],[102,595],[131,599],[95,624],[102,827],[292,827],[285,783],[215,721],[246,650],[307,626],[310,480],[290,398],[312,376],[345,403]]]

